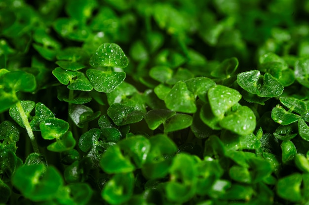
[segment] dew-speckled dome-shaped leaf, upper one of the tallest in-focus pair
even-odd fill
[[[89,61],[93,67],[125,68],[129,61],[122,49],[115,43],[104,43],[96,50]]]

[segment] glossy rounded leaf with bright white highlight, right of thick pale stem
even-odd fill
[[[69,130],[69,123],[52,117],[42,120],[39,129],[45,140],[60,139]]]

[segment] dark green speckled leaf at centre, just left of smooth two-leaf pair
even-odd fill
[[[144,117],[144,114],[135,110],[134,107],[120,103],[111,105],[107,110],[107,114],[119,126],[139,122]]]

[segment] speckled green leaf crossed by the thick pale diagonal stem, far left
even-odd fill
[[[26,116],[29,119],[30,113],[35,108],[36,103],[33,102],[33,101],[30,101],[30,100],[22,100],[22,101],[20,101],[20,104],[21,104]],[[20,113],[19,113],[16,105],[12,106],[9,109],[8,112],[9,112],[9,115],[15,120],[15,122],[17,122],[19,124],[19,126],[25,128],[24,122],[22,120],[22,117],[20,116]]]

